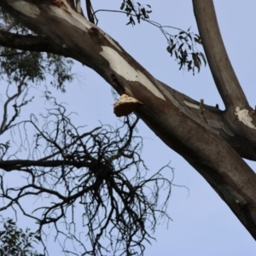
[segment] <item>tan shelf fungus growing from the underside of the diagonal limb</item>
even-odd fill
[[[115,113],[117,117],[125,116],[134,112],[138,105],[143,105],[143,103],[123,94],[120,96],[119,100],[113,104],[113,113]]]

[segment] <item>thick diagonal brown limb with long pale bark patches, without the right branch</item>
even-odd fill
[[[256,175],[212,130],[204,117],[203,102],[199,107],[201,113],[191,111],[191,105],[175,97],[113,38],[69,8],[64,0],[61,6],[32,0],[3,0],[0,6],[73,59],[93,68],[119,94],[142,102],[137,115],[205,177],[256,239]],[[244,100],[241,96],[241,101]],[[237,103],[234,99],[227,101]],[[230,131],[233,132],[232,127]]]

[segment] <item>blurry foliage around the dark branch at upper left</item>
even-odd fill
[[[0,29],[8,27],[12,17],[0,9]],[[25,26],[16,24],[11,32],[17,35],[34,35]],[[73,61],[61,55],[0,46],[0,78],[8,84],[36,84],[50,79],[55,88],[65,91],[65,83],[73,80]],[[49,75],[49,77],[48,77]]]

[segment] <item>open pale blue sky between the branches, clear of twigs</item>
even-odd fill
[[[140,3],[148,3],[153,9],[151,20],[184,30],[191,26],[190,31],[197,32],[191,1],[143,1]],[[122,1],[91,2],[94,9],[119,9]],[[256,105],[256,2],[218,0],[214,3],[230,61],[253,107]],[[177,63],[166,52],[166,39],[156,27],[143,22],[134,27],[125,26],[127,18],[119,14],[99,13],[98,18],[98,26],[156,79],[197,101],[204,99],[207,105],[218,103],[220,108],[224,108],[209,68],[203,67],[201,73],[195,76],[179,71]],[[76,64],[73,71],[78,74],[79,81],[67,84],[67,93],[59,97],[69,104],[70,111],[79,113],[75,121],[79,125],[88,125],[89,130],[99,125],[99,120],[103,124],[118,124],[113,114],[110,85],[87,67]],[[38,112],[42,112],[43,108],[37,105]],[[181,156],[167,148],[142,121],[138,129],[139,134],[145,137],[143,159],[150,172],[156,172],[171,161],[171,166],[175,168],[174,183],[189,188],[188,193],[188,189],[173,187],[168,208],[173,221],[168,229],[166,224],[157,227],[157,241],[148,245],[145,255],[256,255],[255,241],[208,183]],[[255,164],[251,166],[256,169]],[[49,248],[49,251],[52,249]],[[55,255],[61,253],[56,254],[55,251]]]

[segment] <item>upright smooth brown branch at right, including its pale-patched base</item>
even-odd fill
[[[224,123],[238,136],[256,146],[255,111],[247,102],[224,47],[212,0],[193,0],[195,18],[212,77],[226,111]]]

